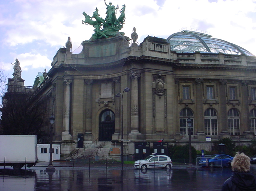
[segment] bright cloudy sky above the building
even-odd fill
[[[256,0],[111,2],[120,8],[126,5],[121,32],[130,37],[136,27],[139,43],[148,35],[167,38],[187,27],[207,31],[213,38],[239,45],[256,55]],[[94,29],[82,24],[82,13],[92,16],[96,7],[105,18],[104,0],[1,0],[0,67],[12,78],[11,63],[17,57],[24,85],[32,86],[38,72],[44,72],[44,68],[50,70],[53,56],[65,46],[68,36],[73,43],[73,54],[80,53],[81,42],[89,40]]]

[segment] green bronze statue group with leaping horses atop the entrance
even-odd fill
[[[104,0],[104,2],[106,4],[106,0]],[[94,39],[102,39],[108,38],[110,36],[116,36],[116,33],[118,33],[118,31],[122,29],[125,22],[125,4],[122,5],[122,9],[120,10],[121,14],[118,19],[116,18],[116,10],[119,8],[119,6],[117,5],[115,7],[114,5],[112,5],[111,2],[109,2],[109,5],[106,4],[106,6],[107,16],[105,20],[100,17],[97,7],[93,12],[92,17],[83,12],[85,20],[82,21],[82,23],[86,25],[92,25],[95,28],[93,30],[95,33],[92,35]],[[92,20],[93,18],[94,20]],[[119,33],[122,35],[125,34],[123,32]]]

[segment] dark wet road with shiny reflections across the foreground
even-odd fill
[[[195,170],[137,170],[125,168],[56,168],[0,169],[1,191],[184,191],[220,190],[232,174],[230,168],[200,168]],[[256,172],[254,167],[252,172]]]

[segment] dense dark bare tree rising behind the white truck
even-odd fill
[[[2,133],[4,135],[44,136],[46,106],[43,103],[31,105],[30,94],[24,92],[6,92],[3,97]]]

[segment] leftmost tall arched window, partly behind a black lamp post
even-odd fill
[[[191,119],[191,135],[194,135],[194,114],[191,109],[185,108],[180,111],[179,114],[179,125],[180,125],[180,135],[188,135],[188,118]]]

